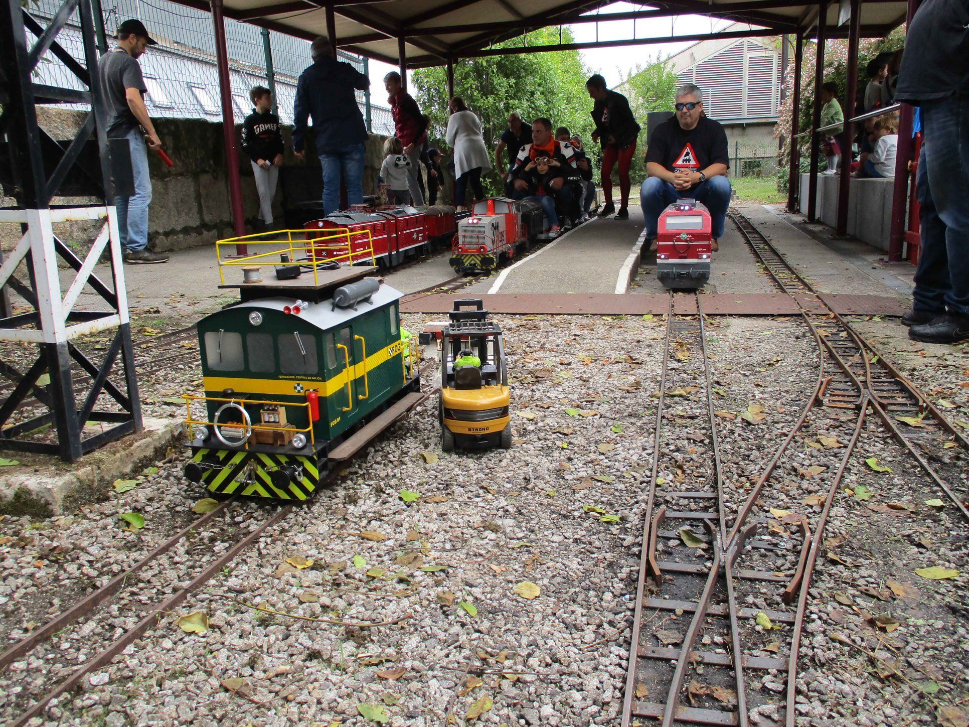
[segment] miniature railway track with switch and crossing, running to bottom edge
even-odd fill
[[[699,317],[672,314],[668,320],[622,724],[746,726],[752,710],[766,710],[793,725],[807,585],[867,399],[816,338],[818,380],[795,427],[753,489],[729,493],[720,465],[702,298],[697,297]],[[693,355],[684,356],[691,350]],[[674,368],[671,355],[681,360]],[[670,395],[689,393],[689,387],[703,390],[703,404],[669,411]],[[692,424],[678,424],[682,418]],[[706,423],[705,437],[696,430],[700,420]],[[758,533],[766,513],[793,515],[803,509],[807,490],[767,486],[784,475],[778,465],[791,442],[821,430],[848,443],[839,465],[812,483],[819,490],[827,487],[821,513],[793,516],[785,525],[773,522],[784,532],[780,538]],[[700,456],[701,469],[687,471],[679,464],[687,461],[682,458],[686,445]],[[763,608],[741,608],[741,603]],[[767,649],[756,628],[760,616],[777,629]]]

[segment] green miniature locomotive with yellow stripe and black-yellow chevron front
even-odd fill
[[[324,282],[301,288],[243,285],[241,302],[199,322],[204,394],[184,395],[189,480],[306,499],[331,464],[421,400],[417,351],[401,340],[402,294],[364,277],[373,270],[320,270]]]

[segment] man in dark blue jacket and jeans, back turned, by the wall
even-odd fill
[[[337,61],[327,38],[310,46],[313,65],[299,75],[294,104],[293,151],[303,158],[306,120],[313,117],[316,151],[323,165],[323,210],[340,207],[340,174],[347,188],[347,202],[363,202],[363,157],[366,125],[357,105],[355,90],[366,90],[370,79],[349,63]]]

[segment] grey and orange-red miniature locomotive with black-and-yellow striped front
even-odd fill
[[[542,205],[504,197],[475,203],[457,225],[451,266],[458,273],[489,272],[544,237],[548,229]]]

